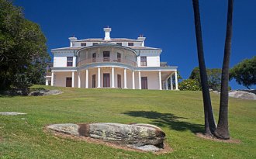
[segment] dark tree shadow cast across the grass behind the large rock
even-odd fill
[[[151,119],[151,124],[161,127],[168,127],[170,130],[190,130],[192,133],[199,133],[204,131],[203,125],[181,121],[182,119],[188,118],[175,116],[171,113],[160,113],[153,111],[129,111],[124,112],[123,114],[133,117],[144,117]]]

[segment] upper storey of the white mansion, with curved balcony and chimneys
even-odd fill
[[[134,67],[160,67],[162,50],[145,47],[146,37],[140,35],[137,40],[111,38],[111,28],[104,28],[104,31],[104,38],[78,40],[73,36],[69,38],[70,47],[52,49],[54,67],[64,67],[67,62],[65,59],[73,59],[73,67],[99,62],[126,63]]]

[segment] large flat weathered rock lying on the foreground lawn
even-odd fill
[[[54,124],[47,129],[80,137],[119,143],[138,150],[158,151],[164,147],[165,133],[150,124],[88,123]]]

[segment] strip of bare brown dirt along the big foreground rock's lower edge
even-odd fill
[[[127,147],[127,146],[119,144],[119,143],[112,143],[109,141],[94,139],[91,137],[77,137],[77,136],[70,135],[70,134],[59,133],[54,130],[47,130],[47,126],[44,127],[43,131],[45,133],[53,133],[55,137],[61,137],[64,139],[80,140],[80,141],[85,141],[87,143],[102,144],[102,145],[106,145],[107,147],[112,147],[112,148],[116,148],[116,149],[130,150],[130,151],[135,151],[135,152],[140,152],[140,153],[148,153],[148,151],[138,150],[133,147]],[[173,149],[168,145],[168,143],[164,142],[163,149],[158,150],[157,152],[151,152],[151,153],[153,153],[153,154],[168,154],[168,153],[171,153],[172,151],[173,151]]]

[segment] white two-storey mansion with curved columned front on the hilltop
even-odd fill
[[[172,90],[175,78],[178,90],[177,67],[160,62],[161,49],[145,47],[143,36],[137,40],[111,38],[111,28],[104,31],[103,39],[70,37],[70,47],[52,49],[54,64],[46,85]]]

